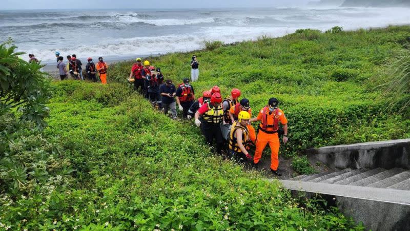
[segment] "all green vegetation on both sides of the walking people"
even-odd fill
[[[407,26],[299,30],[196,51],[201,74],[194,87],[199,93],[218,85],[226,95],[237,87],[255,112],[277,96],[290,121],[290,143],[281,150],[289,157],[315,146],[410,137],[409,118],[397,112],[404,102],[387,111],[381,90],[368,81],[409,36]],[[150,60],[177,83],[189,76],[191,55]],[[28,93],[52,93],[44,130],[43,117],[32,119],[31,110],[2,109],[1,229],[363,229],[335,209],[297,201],[277,181],[215,157],[196,127],[154,111],[125,87],[131,64],[112,65],[107,86],[59,81],[51,91]],[[15,67],[4,73],[18,73]],[[26,69],[1,77],[26,74],[40,75]],[[47,99],[34,112],[46,110]],[[311,171],[304,157],[293,162],[300,172]]]

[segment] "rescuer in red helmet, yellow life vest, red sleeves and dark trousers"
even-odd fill
[[[214,93],[211,100],[205,102],[195,113],[195,124],[201,128],[202,134],[210,146],[212,146],[213,140],[216,140],[218,154],[222,154],[224,140],[219,126],[223,119],[221,102],[221,94]],[[200,120],[199,117],[201,117]]]

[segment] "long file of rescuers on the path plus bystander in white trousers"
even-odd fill
[[[192,60],[194,57],[196,59],[196,56],[193,56]],[[257,167],[262,152],[269,143],[271,171],[281,176],[278,171],[279,138],[282,137],[283,143],[288,142],[288,120],[283,111],[278,108],[278,99],[270,98],[267,106],[252,118],[250,101],[247,98],[239,99],[241,96],[239,89],[232,89],[231,94],[223,98],[219,87],[214,86],[196,99],[189,78],[183,78],[182,83],[176,87],[171,79],[166,79],[163,83],[164,77],[160,68],[151,66],[148,60],[143,64],[141,58],[136,58],[129,81],[134,83],[134,90],[144,94],[154,107],[177,119],[176,105],[178,105],[183,119],[195,119],[195,124],[200,127],[210,146],[213,146],[215,140],[218,154],[222,154],[224,144],[228,143],[229,156],[239,162],[250,161]],[[192,80],[195,81],[197,78]],[[257,121],[259,125],[255,131],[251,123]],[[250,154],[252,144],[256,146],[253,156]]]

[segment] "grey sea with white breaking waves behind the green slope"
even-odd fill
[[[19,51],[46,63],[55,61],[55,51],[109,60],[191,51],[203,48],[205,40],[277,37],[303,28],[410,24],[408,12],[410,8],[0,11],[0,41],[11,37]]]

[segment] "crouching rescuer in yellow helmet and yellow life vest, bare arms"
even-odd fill
[[[232,129],[229,136],[229,151],[230,155],[239,162],[246,160],[252,161],[253,157],[249,155],[249,137],[248,124],[251,119],[251,114],[247,111],[241,111],[238,115],[238,121],[232,123]]]

